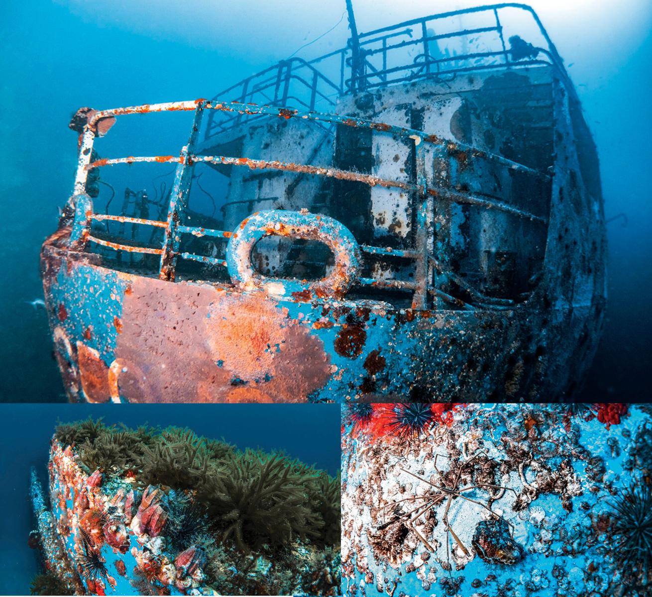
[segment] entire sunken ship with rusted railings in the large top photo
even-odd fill
[[[541,21],[502,3],[359,33],[348,8],[341,50],[211,99],[75,115],[74,193],[42,248],[70,400],[581,385],[606,302],[599,166]],[[115,123],[180,111],[179,153],[100,157]],[[171,167],[170,186],[132,190],[137,167]],[[122,209],[98,192],[118,171]]]

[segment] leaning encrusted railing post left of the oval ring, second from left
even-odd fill
[[[174,184],[170,190],[170,206],[168,207],[168,225],[165,229],[163,240],[163,253],[160,259],[158,277],[161,280],[174,281],[175,269],[177,267],[177,255],[179,254],[179,222],[185,214],[186,201],[190,190],[192,174],[192,155],[201,126],[201,117],[204,111],[205,102],[197,104],[192,131],[188,139],[188,145],[181,149],[179,166],[174,175]]]

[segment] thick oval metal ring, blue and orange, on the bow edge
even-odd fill
[[[252,266],[251,252],[256,242],[269,236],[322,242],[335,257],[333,270],[314,282],[261,276]],[[360,263],[360,247],[346,226],[329,216],[282,209],[256,212],[243,220],[226,250],[233,284],[258,288],[276,297],[296,297],[298,293],[305,298],[342,298],[357,279]]]

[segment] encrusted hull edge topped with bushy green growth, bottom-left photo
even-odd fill
[[[33,473],[35,594],[320,594],[340,585],[340,480],[181,428],[57,428]]]

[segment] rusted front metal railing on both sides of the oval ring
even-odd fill
[[[91,162],[91,153],[93,151],[93,141],[95,139],[96,126],[102,119],[109,119],[120,115],[166,112],[166,111],[194,111],[192,130],[188,143],[181,149],[179,156],[128,156],[126,158],[106,158]],[[411,141],[415,155],[416,177],[411,182],[396,181],[391,179],[382,179],[380,177],[346,171],[331,167],[318,167],[309,164],[295,164],[288,162],[278,162],[269,160],[252,160],[246,157],[231,156],[204,156],[194,153],[198,131],[200,130],[201,119],[206,110],[216,110],[224,112],[235,112],[246,115],[268,115],[282,119],[296,119],[305,123],[333,123],[351,126],[355,128],[367,128],[381,134],[392,135],[404,141]],[[186,208],[186,201],[190,189],[190,169],[194,164],[203,162],[211,164],[229,164],[232,166],[249,167],[252,169],[269,168],[281,171],[292,171],[297,173],[306,173],[333,179],[356,181],[369,186],[384,186],[390,188],[400,188],[401,190],[413,193],[416,201],[413,203],[415,210],[415,219],[417,227],[415,231],[415,246],[413,250],[401,250],[383,248],[378,246],[361,246],[361,250],[368,254],[391,255],[410,259],[415,263],[415,281],[406,282],[404,280],[376,280],[373,278],[358,278],[357,284],[374,287],[409,289],[413,291],[412,306],[415,309],[423,309],[428,305],[428,297],[441,298],[447,302],[461,301],[449,297],[437,288],[437,259],[443,263],[441,255],[445,253],[445,247],[439,246],[437,232],[434,224],[434,212],[436,201],[452,201],[454,203],[471,203],[479,205],[486,209],[496,209],[509,214],[527,218],[532,221],[546,222],[546,218],[533,214],[531,212],[517,209],[502,201],[490,198],[474,196],[471,193],[455,191],[452,192],[446,188],[428,188],[426,177],[426,146],[434,148],[436,156],[444,158],[449,154],[459,151],[477,151],[473,147],[462,143],[454,143],[448,139],[442,139],[437,136],[428,135],[422,131],[391,124],[377,123],[364,119],[357,119],[348,116],[317,113],[301,112],[296,109],[274,108],[271,106],[252,106],[243,105],[237,102],[215,102],[213,100],[199,99],[188,102],[171,102],[168,104],[146,104],[143,106],[131,106],[128,108],[117,108],[96,112],[88,121],[83,131],[83,138],[80,147],[78,160],[78,169],[74,185],[74,224],[71,233],[72,246],[83,250],[87,242],[95,242],[101,246],[106,246],[113,250],[137,252],[143,254],[160,255],[160,266],[158,275],[162,280],[174,280],[177,259],[190,259],[200,263],[211,263],[226,267],[226,260],[216,259],[215,257],[205,257],[202,255],[179,252],[181,235],[193,234],[198,237],[212,236],[229,239],[231,231],[205,229],[201,227],[181,226]],[[491,160],[496,164],[501,164],[513,171],[520,171],[534,177],[549,179],[548,175],[537,170],[517,164],[496,154],[482,153],[478,154],[479,158]],[[85,194],[85,185],[89,171],[97,167],[113,166],[116,164],[134,164],[137,162],[149,162],[155,164],[176,163],[175,179],[170,193],[170,203],[168,205],[168,216],[166,221],[144,220],[140,218],[131,218],[127,216],[110,216],[106,214],[93,213],[92,202],[89,196]],[[153,226],[164,229],[164,240],[160,248],[147,248],[110,242],[99,239],[91,235],[91,223],[93,221],[114,220],[142,226]],[[433,257],[434,254],[434,257]]]

